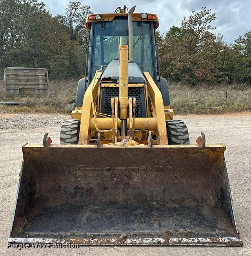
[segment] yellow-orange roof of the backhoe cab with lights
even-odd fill
[[[95,15],[102,15],[101,19],[96,20],[96,19],[90,19],[90,17],[95,17]],[[148,18],[141,18],[141,13],[133,13],[133,21],[151,21],[153,22],[153,28],[157,29],[158,28],[158,17],[156,14],[153,13],[147,13],[147,15],[151,15],[152,18],[148,19]],[[87,30],[91,29],[91,22],[109,22],[109,21],[113,21],[113,19],[115,17],[123,17],[123,16],[128,16],[128,13],[96,13],[96,14],[90,14],[88,15],[88,17],[86,18],[86,22],[85,22],[85,26],[87,28]],[[155,18],[154,18],[155,17]]]

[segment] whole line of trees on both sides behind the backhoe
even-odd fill
[[[80,77],[89,44],[89,14],[90,6],[76,1],[68,4],[65,15],[52,17],[38,0],[0,0],[0,77],[7,66],[45,67],[51,78]],[[190,84],[251,79],[251,31],[226,44],[213,33],[215,19],[215,13],[202,7],[167,33],[156,31],[161,74]]]

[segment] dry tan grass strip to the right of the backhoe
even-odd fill
[[[251,110],[251,87],[202,84],[195,87],[169,83],[171,108],[176,113],[215,114]]]

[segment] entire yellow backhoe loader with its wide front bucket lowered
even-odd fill
[[[155,14],[91,14],[60,145],[25,144],[9,243],[241,246],[223,144],[190,145],[160,76]]]

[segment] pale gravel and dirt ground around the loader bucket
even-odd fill
[[[0,254],[1,255],[251,255],[251,112],[176,116],[188,126],[190,143],[203,131],[207,144],[223,143],[235,206],[237,228],[244,247],[81,247],[79,249],[7,249],[22,164],[21,147],[40,143],[49,132],[59,143],[62,120],[68,115],[0,113]]]

